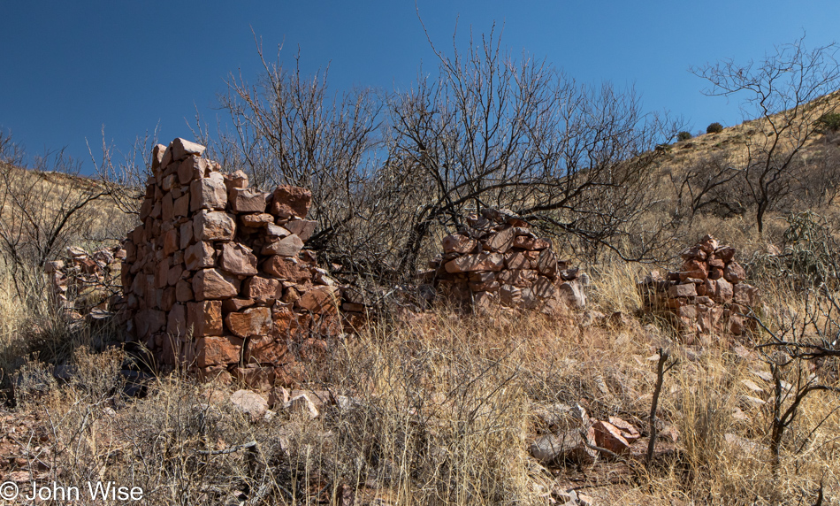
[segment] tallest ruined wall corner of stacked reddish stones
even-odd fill
[[[122,265],[130,332],[164,369],[289,383],[300,357],[342,332],[342,289],[304,249],[311,193],[248,188],[245,173],[222,173],[203,151],[184,139],[153,149]],[[352,318],[364,308],[343,309]]]

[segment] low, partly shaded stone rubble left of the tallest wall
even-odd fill
[[[67,248],[64,257],[44,265],[53,302],[74,320],[109,318],[124,305],[118,285],[125,257],[126,250],[119,246],[93,253]]]

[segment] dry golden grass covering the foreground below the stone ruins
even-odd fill
[[[615,264],[593,276],[594,309],[633,311],[635,275]],[[771,306],[796,304],[790,293],[769,297]],[[10,311],[4,326],[25,314],[5,301],[0,307]],[[315,420],[280,410],[252,424],[228,400],[235,386],[197,385],[177,374],[158,379],[146,397],[126,399],[118,395],[121,352],[84,347],[73,352],[73,380],[21,387],[10,413],[36,419],[29,430],[46,434],[26,447],[44,463],[39,480],[131,483],[149,504],[239,503],[255,495],[262,497],[255,503],[341,504],[350,491],[366,504],[547,504],[558,487],[576,487],[600,504],[798,504],[813,502],[821,480],[827,497],[836,493],[835,395],[808,398],[774,477],[770,413],[739,400],[759,395],[742,382],[761,384],[752,372],[766,369],[758,357],[724,345],[698,355],[656,326],[583,327],[580,319],[439,311],[372,326],[313,368],[319,380],[305,387],[340,399]],[[581,403],[594,418],[620,416],[644,435],[655,381],[648,357],[660,346],[681,359],[665,380],[660,410],[679,439],[663,436],[653,466],[631,471],[601,460],[548,470],[531,459],[528,445],[545,430],[534,413],[551,403]],[[30,372],[43,369],[49,366],[27,364]],[[738,407],[748,419],[735,417]],[[725,434],[744,440],[728,442]],[[253,451],[201,453],[248,441],[256,441]],[[634,445],[645,447],[645,438]]]

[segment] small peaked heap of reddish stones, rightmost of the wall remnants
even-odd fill
[[[760,303],[748,285],[736,249],[720,246],[711,235],[681,253],[682,270],[664,279],[653,271],[638,283],[643,311],[669,318],[687,342],[713,335],[741,335],[754,326],[747,318]]]

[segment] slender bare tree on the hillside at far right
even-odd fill
[[[737,64],[731,59],[692,68],[710,83],[708,96],[745,95],[742,111],[758,133],[746,139],[746,156],[737,164],[759,232],[767,211],[798,187],[802,149],[820,133],[818,119],[836,110],[840,88],[838,46],[832,42],[806,49],[805,36],[775,48],[763,61]]]

